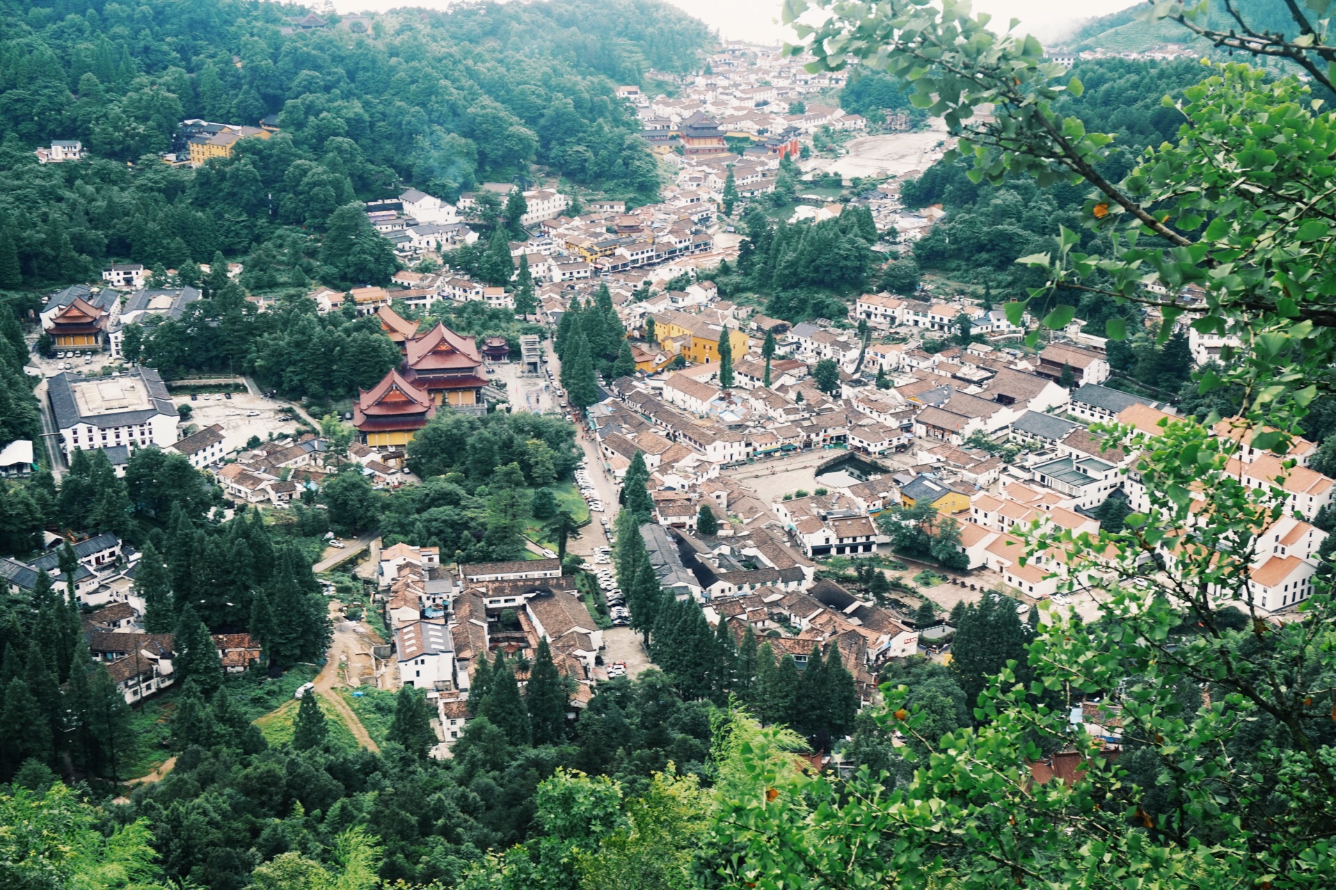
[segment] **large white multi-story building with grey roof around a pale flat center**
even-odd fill
[[[162,377],[140,367],[110,378],[48,378],[51,414],[65,460],[76,450],[126,445],[167,448],[176,442],[180,418]]]

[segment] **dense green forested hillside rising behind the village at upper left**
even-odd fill
[[[180,267],[271,242],[266,266],[283,278],[299,266],[327,283],[375,282],[393,271],[385,257],[321,258],[313,235],[338,207],[405,184],[453,200],[534,164],[649,196],[657,166],[612,90],[649,67],[695,64],[708,39],[648,0],[398,11],[370,33],[283,33],[302,12],[0,4],[0,287],[80,279],[112,258]],[[257,126],[269,114],[282,132],[243,140],[230,160],[190,171],[155,156],[184,118]],[[81,140],[94,160],[39,166],[32,150],[52,139]]]

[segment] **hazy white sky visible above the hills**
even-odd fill
[[[561,3],[561,0],[550,0]],[[1140,0],[975,0],[974,8],[993,13],[994,21],[1006,28],[1014,16],[1030,33],[1050,39],[1083,19],[1117,12]],[[780,0],[668,0],[696,16],[732,40],[771,43],[791,37],[779,24]],[[383,11],[395,7],[445,8],[452,0],[334,0],[339,12]]]

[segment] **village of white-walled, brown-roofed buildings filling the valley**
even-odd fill
[[[365,204],[399,270],[387,285],[313,286],[309,297],[322,315],[371,319],[398,355],[333,413],[250,374],[167,376],[134,359],[144,329],[180,319],[203,282],[114,263],[100,282],[59,289],[31,338],[45,343],[29,369],[43,377],[44,434],[5,446],[0,472],[21,478],[47,465],[59,481],[98,452],[116,478],[134,477],[136,452],[159,449],[218,486],[219,523],[254,514],[282,525],[325,509],[326,486],[350,466],[375,496],[432,485],[414,441],[438,418],[568,421],[569,472],[533,488],[565,486],[570,527],[534,520],[514,559],[466,561],[413,537],[411,523],[309,536],[333,620],[311,688],[358,707],[351,696],[363,692],[425,691],[442,758],[497,652],[522,686],[541,651],[565,678],[572,714],[600,684],[676,657],[653,639],[645,592],[628,589],[644,580],[620,564],[629,560],[652,567],[656,589],[699,604],[708,632],[731,645],[760,640],[798,667],[812,653],[838,660],[862,704],[890,663],[949,663],[969,604],[1005,603],[1022,621],[1050,608],[1094,619],[1098,597],[1132,579],[1027,548],[1156,509],[1138,450],[1112,446],[1104,428],[1156,437],[1174,406],[1120,388],[1106,341],[1079,319],[1027,343],[1038,319],[941,278],[903,293],[874,283],[843,301],[844,314],[796,322],[768,315],[756,294],[721,294],[713,277],[748,250],[740,220],[754,202],[783,223],[858,214],[875,226],[875,262],[895,262],[942,216],[906,210],[900,187],[951,142],[906,112],[870,124],[828,104],[842,75],[808,73],[778,48],[727,44],[703,72],[661,78],[671,95],[617,91],[667,171],[657,202],[540,178],[482,183],[453,203],[405,187]],[[186,120],[163,162],[204,164],[281,131],[273,115],[254,123]],[[838,171],[858,140],[872,140],[864,148],[880,160],[852,180]],[[39,151],[43,163],[81,158],[76,142]],[[776,203],[776,188],[791,200]],[[486,271],[497,263],[500,278]],[[216,290],[243,269],[200,271]],[[1190,287],[1178,297],[1201,298]],[[270,310],[265,297],[246,301]],[[469,303],[500,313],[505,329],[453,329]],[[599,337],[592,355],[585,341]],[[1234,345],[1186,338],[1198,366]],[[1216,432],[1234,436],[1228,418]],[[1293,469],[1250,446],[1236,458],[1249,485],[1280,480],[1303,516],[1275,523],[1276,547],[1250,569],[1256,604],[1281,617],[1312,593],[1327,537],[1312,520],[1333,480],[1307,468],[1315,452],[1296,440]],[[90,653],[138,704],[174,686],[179,647],[146,624],[143,552],[114,529],[79,531],[48,532],[35,559],[0,559],[0,576],[25,593],[68,585]],[[1172,548],[1161,556],[1172,569]],[[236,627],[212,636],[220,665],[244,672],[267,641],[244,617],[224,623]],[[357,707],[341,711],[358,722]],[[1116,726],[1101,731],[1117,740]]]

